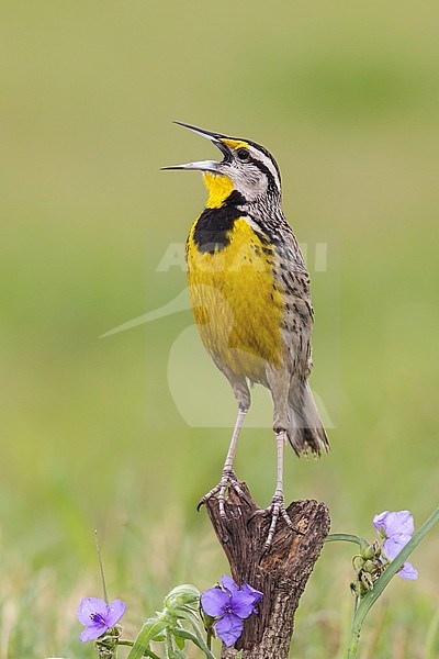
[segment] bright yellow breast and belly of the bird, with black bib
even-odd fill
[[[237,215],[236,208],[221,208],[216,224],[215,211],[210,211],[207,222],[205,211],[188,238],[189,288],[195,322],[219,367],[263,381],[267,364],[279,365],[283,355],[284,308],[272,271],[273,248],[255,232],[251,221]],[[205,234],[200,227],[203,222]],[[202,235],[207,243],[212,238],[207,248]]]

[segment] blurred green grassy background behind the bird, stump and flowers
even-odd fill
[[[333,450],[286,454],[286,498],[323,500],[333,530],[370,538],[375,513],[408,507],[420,525],[437,505],[437,35],[429,1],[3,0],[2,658],[93,655],[75,612],[101,592],[95,528],[126,635],[177,582],[226,570],[195,503],[234,402],[190,311],[99,338],[184,290],[169,255],[205,191],[159,167],[216,155],[172,119],[269,147],[307,245]],[[256,398],[236,468],[267,505],[275,450]],[[394,580],[363,658],[426,657],[438,550],[436,532],[419,580]],[[292,656],[340,656],[351,554],[325,548]]]

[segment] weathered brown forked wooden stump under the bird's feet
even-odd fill
[[[283,520],[278,521],[273,544],[262,556],[270,516],[256,515],[259,510],[246,483],[240,487],[248,500],[230,489],[226,501],[226,523],[219,517],[218,501],[212,498],[206,507],[216,536],[227,556],[232,577],[263,593],[259,615],[244,622],[244,632],[234,648],[223,645],[222,659],[233,659],[244,649],[244,659],[288,659],[293,635],[294,613],[314,565],[329,533],[329,512],[316,501],[294,501],[288,513],[293,533]]]

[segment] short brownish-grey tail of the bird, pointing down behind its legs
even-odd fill
[[[290,428],[288,438],[300,456],[311,450],[319,456],[329,450],[329,440],[323,427],[317,405],[307,382],[296,382],[290,390]]]

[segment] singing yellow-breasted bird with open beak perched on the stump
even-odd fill
[[[221,160],[162,169],[201,171],[209,198],[187,239],[187,269],[194,320],[202,343],[227,378],[237,417],[221,480],[200,501],[217,496],[226,521],[229,489],[245,499],[234,471],[236,445],[250,407],[250,388],[266,387],[273,403],[277,483],[263,545],[272,545],[278,521],[295,529],[284,505],[283,447],[297,456],[329,449],[308,384],[314,311],[309,276],[297,239],[282,210],[280,169],[261,145],[175,122],[212,142]]]

